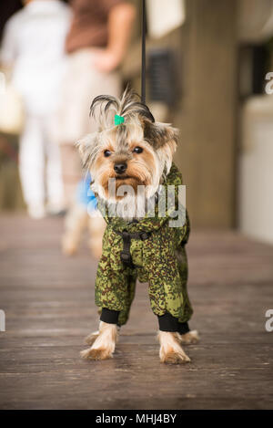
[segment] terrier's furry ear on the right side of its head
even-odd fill
[[[147,119],[142,119],[144,138],[156,150],[163,149],[167,144],[171,151],[176,151],[178,130],[173,128],[168,123],[151,122]]]

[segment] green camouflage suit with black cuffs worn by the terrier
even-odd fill
[[[182,333],[188,331],[187,320],[193,311],[187,296],[185,245],[189,235],[189,221],[184,207],[182,225],[169,226],[169,220],[177,206],[180,184],[182,176],[173,163],[163,183],[165,189],[172,185],[175,190],[174,204],[167,207],[166,216],[158,215],[158,204],[155,216],[146,215],[136,222],[126,222],[121,217],[103,213],[107,225],[103,253],[96,274],[96,305],[105,313],[116,313],[116,323],[120,326],[127,321],[137,278],[139,282],[148,283],[150,304],[159,319],[159,329],[181,330]],[[124,236],[128,238],[129,234],[132,263],[126,266],[121,260],[121,253],[125,245]],[[163,323],[160,328],[160,319],[163,321],[166,317],[172,321],[171,327],[167,322],[167,325]],[[111,322],[106,317],[101,319]]]

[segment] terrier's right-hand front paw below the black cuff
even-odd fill
[[[161,362],[184,364],[190,361],[179,344],[177,333],[159,330],[158,340],[160,343],[159,358]]]

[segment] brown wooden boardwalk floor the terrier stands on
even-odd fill
[[[158,360],[157,319],[139,284],[115,358],[80,360],[96,329],[96,262],[86,245],[60,252],[62,220],[0,219],[1,409],[273,408],[273,247],[231,232],[192,234],[188,245],[192,363]]]

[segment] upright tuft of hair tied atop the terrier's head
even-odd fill
[[[108,115],[111,111],[119,116],[123,116],[125,120],[129,120],[134,116],[149,120],[154,123],[155,118],[150,112],[146,104],[139,100],[139,96],[132,89],[126,88],[121,99],[117,99],[111,95],[99,95],[93,99],[90,107],[90,115],[95,116],[96,109],[99,107],[98,120],[102,129],[109,126]]]

